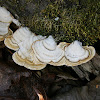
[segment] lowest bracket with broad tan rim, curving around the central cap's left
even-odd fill
[[[40,70],[43,69],[46,64],[34,64],[31,59],[31,52],[32,48],[31,45],[36,40],[44,39],[45,37],[38,35],[34,36],[31,35],[29,38],[26,38],[24,41],[19,43],[19,50],[16,51],[12,58],[15,63],[17,63],[20,66],[24,66],[31,70]]]

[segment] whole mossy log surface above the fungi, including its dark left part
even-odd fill
[[[79,40],[84,45],[100,39],[100,0],[1,0],[7,9],[36,34],[57,42]],[[58,21],[55,18],[59,17]]]

